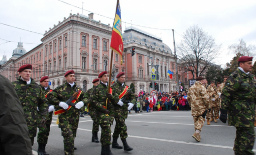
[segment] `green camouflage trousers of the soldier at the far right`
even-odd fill
[[[254,128],[236,127],[236,138],[234,145],[235,155],[254,155],[255,131]]]

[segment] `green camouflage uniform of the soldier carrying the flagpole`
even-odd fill
[[[100,143],[102,146],[108,146],[111,144],[111,125],[114,121],[114,107],[113,104],[119,101],[119,97],[115,94],[115,91],[112,93],[112,99],[107,103],[107,109],[103,106],[106,106],[106,93],[108,92],[108,86],[100,82],[99,85],[93,88],[92,94],[90,96],[90,103],[92,108],[95,109],[97,116],[97,123],[101,128]],[[108,116],[104,113],[109,111]]]

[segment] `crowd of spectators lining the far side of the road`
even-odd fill
[[[191,107],[187,101],[187,91],[157,92],[150,94],[140,90],[136,96],[136,104],[133,109],[135,113],[152,112],[160,110],[182,110],[189,111]],[[129,110],[129,113],[130,110]]]

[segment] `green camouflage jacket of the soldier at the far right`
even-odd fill
[[[239,69],[233,72],[225,83],[221,95],[221,107],[228,110],[228,125],[254,127],[256,81],[254,75]]]

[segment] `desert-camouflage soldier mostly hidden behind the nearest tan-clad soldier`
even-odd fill
[[[215,91],[213,89],[213,87],[211,87],[210,85],[207,84],[207,80],[204,79],[203,81],[203,85],[206,88],[207,94],[209,96],[209,100],[210,100],[210,104],[211,104],[211,111],[207,112],[206,114],[206,119],[207,119],[207,125],[211,125],[211,121],[213,121],[213,108],[212,108],[212,95],[215,94]]]

